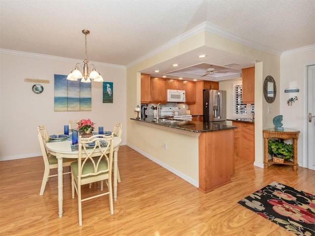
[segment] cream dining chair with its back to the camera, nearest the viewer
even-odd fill
[[[104,195],[109,195],[110,213],[114,214],[113,189],[112,189],[112,167],[114,152],[114,135],[94,135],[90,138],[79,136],[78,149],[79,158],[71,163],[71,185],[72,198],[74,190],[78,195],[79,226],[82,226],[82,202]],[[103,180],[108,190],[103,191]],[[81,186],[101,181],[100,194],[82,199]]]

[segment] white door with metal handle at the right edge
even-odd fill
[[[308,163],[307,168],[315,170],[315,65],[308,66]]]

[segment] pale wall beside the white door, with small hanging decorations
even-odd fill
[[[306,167],[306,66],[315,64],[315,45],[285,52],[281,57],[281,82],[277,84],[280,97],[280,115],[284,116],[283,127],[300,130],[298,139],[298,164]],[[297,87],[298,93],[284,93],[288,87]],[[288,106],[286,101],[297,96],[298,100]]]

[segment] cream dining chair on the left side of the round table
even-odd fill
[[[58,161],[57,161],[56,156],[51,155],[47,151],[46,143],[48,142],[49,136],[48,136],[48,133],[44,124],[37,126],[37,134],[38,134],[38,141],[39,141],[41,154],[43,156],[44,165],[45,165],[44,176],[41,182],[41,187],[40,187],[40,192],[39,192],[39,196],[42,196],[44,194],[46,183],[48,182],[49,177],[57,176],[57,174],[50,175],[50,170],[58,167],[58,163],[57,163]],[[70,162],[72,161],[74,161],[74,159],[63,158],[63,166],[70,166]],[[70,172],[66,172],[63,174],[70,174]]]

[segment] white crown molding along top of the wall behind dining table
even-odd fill
[[[63,58],[63,57],[50,56],[50,55],[45,55],[45,54],[14,51],[14,50],[2,49],[2,48],[0,48],[0,53],[1,54],[7,54],[7,55],[14,55],[14,56],[31,57],[31,58],[37,58],[37,59],[52,59],[52,60],[67,61],[67,62],[73,62],[73,63],[78,62],[78,59]],[[106,67],[115,67],[115,68],[125,68],[126,69],[126,66],[124,66],[124,65],[110,64],[110,63],[97,62],[97,61],[89,61],[89,62],[93,63],[95,65],[101,65],[101,66],[106,66]]]

